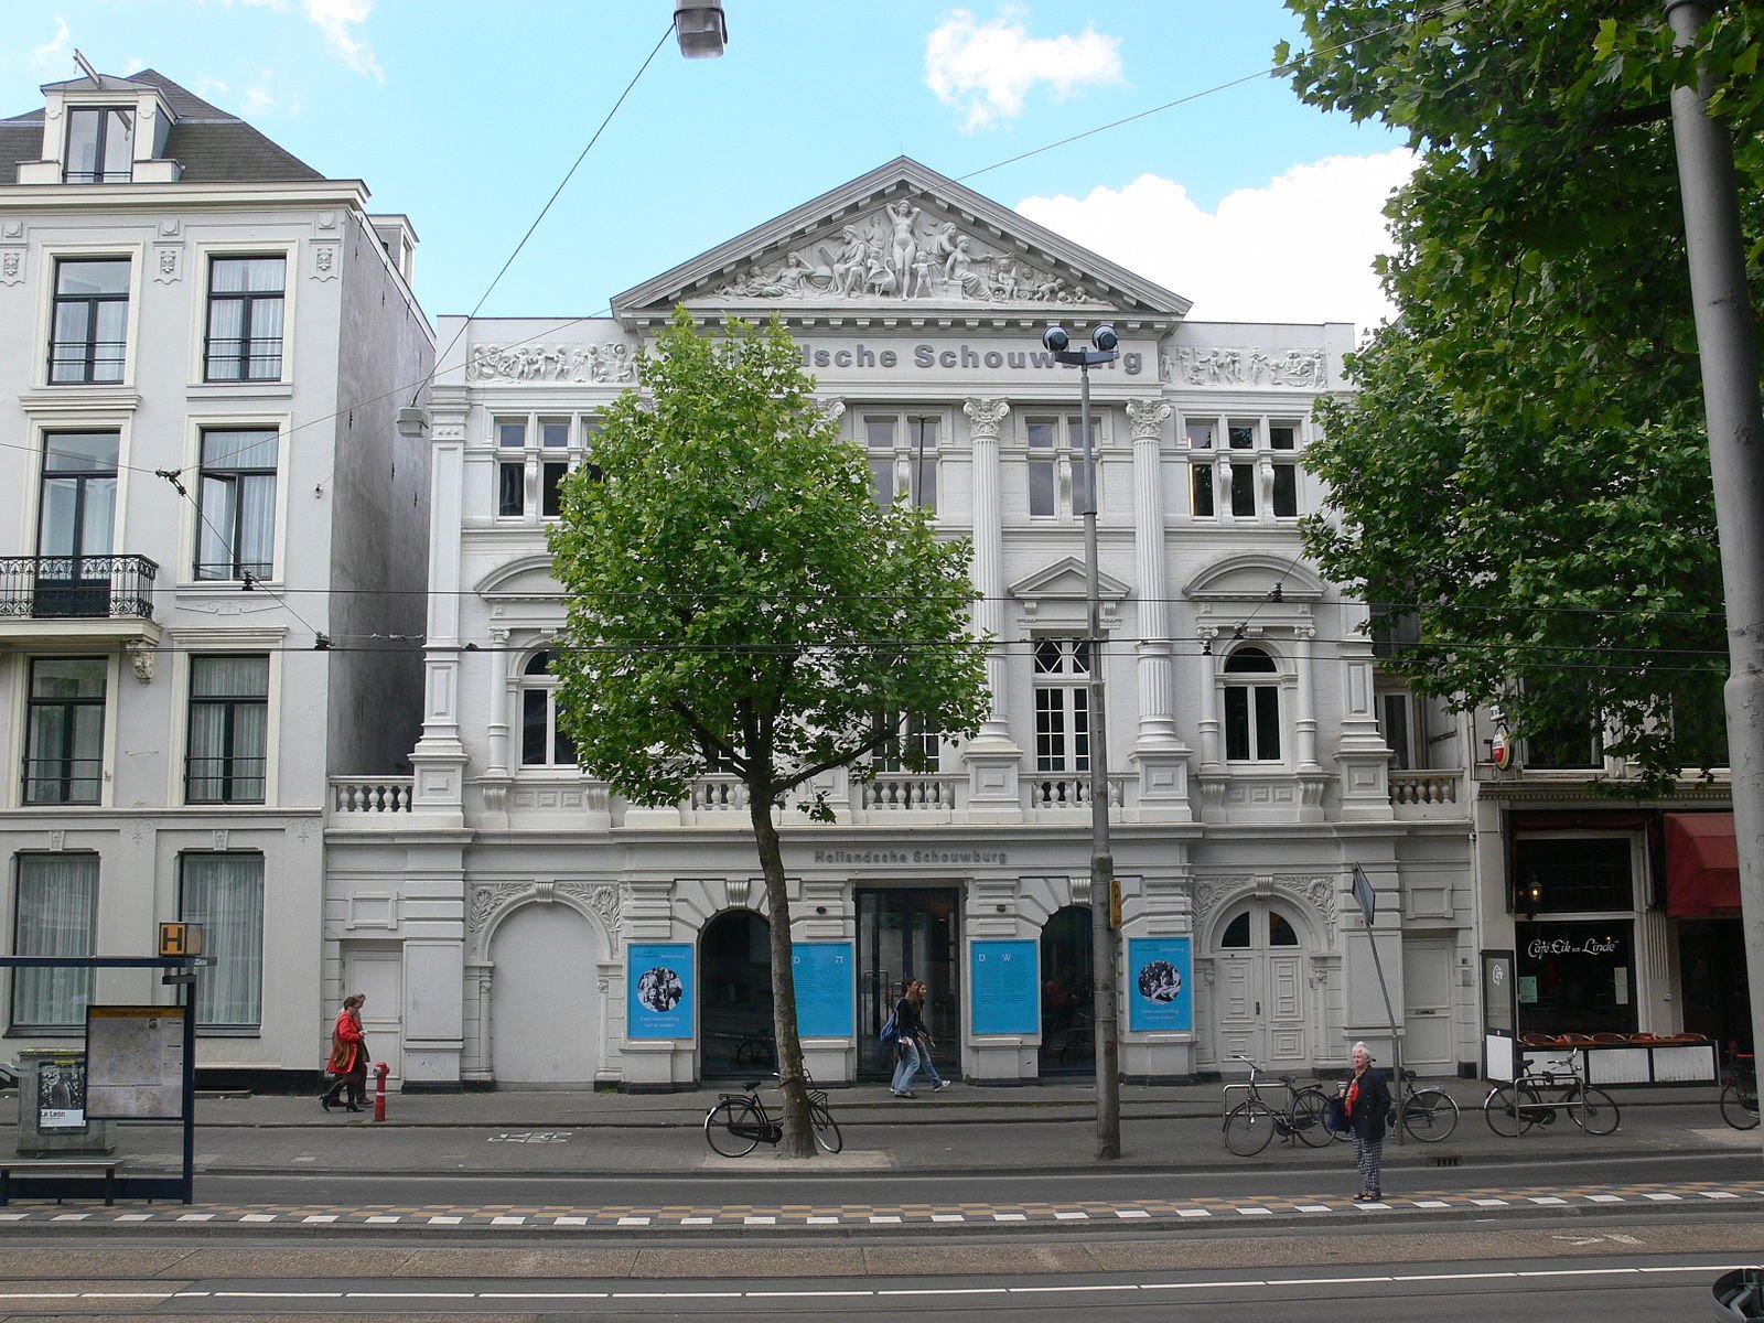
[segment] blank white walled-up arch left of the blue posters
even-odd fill
[[[594,1085],[600,940],[568,905],[522,905],[490,938],[490,1071],[501,1087]]]

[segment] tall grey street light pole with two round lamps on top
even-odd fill
[[[1097,566],[1097,469],[1090,439],[1090,369],[1115,362],[1115,328],[1090,332],[1094,349],[1073,349],[1064,326],[1048,326],[1041,342],[1067,367],[1078,369],[1078,425],[1085,434],[1085,598],[1090,672],[1087,729],[1090,736],[1090,1011],[1095,1021],[1097,1159],[1120,1157],[1120,1044],[1115,1039],[1115,859],[1108,838],[1108,720],[1102,707],[1102,575]]]

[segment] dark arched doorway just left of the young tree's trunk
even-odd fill
[[[771,1018],[771,924],[725,910],[699,938],[700,1076],[746,1078],[778,1069]]]

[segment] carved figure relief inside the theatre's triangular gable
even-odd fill
[[[824,302],[1092,303],[1081,289],[1018,252],[938,222],[901,198],[759,265],[711,291],[714,298]]]

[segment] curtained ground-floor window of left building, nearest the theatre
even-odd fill
[[[203,953],[215,963],[196,981],[198,1028],[263,1023],[263,856],[180,857],[178,917],[203,924]]]

